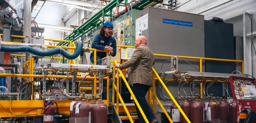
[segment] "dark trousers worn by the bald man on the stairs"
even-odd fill
[[[139,83],[133,84],[133,87],[132,87],[134,96],[138,100],[140,107],[142,108],[142,110],[143,110],[144,114],[146,115],[147,120],[149,120],[149,122],[151,120],[155,119],[154,114],[151,111],[149,104],[147,104],[147,101],[146,101],[146,94],[147,94],[147,91],[149,91],[150,87],[151,86],[149,86],[149,85],[144,85],[144,84],[139,84]],[[140,110],[138,109],[136,104],[135,104],[135,107],[136,107],[138,118],[139,118],[140,122],[145,123],[145,120],[143,119],[143,117],[140,113]]]

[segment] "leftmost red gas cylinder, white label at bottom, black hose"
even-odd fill
[[[44,108],[44,123],[54,123],[54,107],[52,102]]]

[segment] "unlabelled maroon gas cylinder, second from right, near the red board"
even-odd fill
[[[218,106],[219,121],[221,123],[228,123],[228,103],[226,102],[225,95],[223,95],[221,102]]]

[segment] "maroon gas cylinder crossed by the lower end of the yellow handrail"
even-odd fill
[[[191,104],[188,101],[188,99],[185,99],[184,102],[181,103],[181,109],[183,110],[183,112],[186,114],[186,116],[188,117],[188,119],[190,120],[191,118]],[[181,123],[187,123],[187,121],[185,120],[185,118],[182,116],[182,114],[180,114],[181,116]]]

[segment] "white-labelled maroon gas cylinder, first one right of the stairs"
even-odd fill
[[[177,101],[177,97],[175,97],[175,100]],[[177,103],[179,104],[179,102],[177,101]],[[181,106],[181,104],[179,104],[179,106]],[[171,105],[171,108],[170,108],[171,110],[171,115],[170,115],[170,117],[171,117],[171,119],[172,119],[172,121],[174,122],[174,123],[180,123],[180,112],[179,112],[179,109],[178,109],[178,107],[175,105],[175,103],[173,103],[172,105]]]

